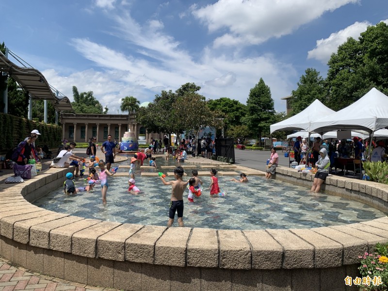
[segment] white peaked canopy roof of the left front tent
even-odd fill
[[[311,123],[313,121],[333,113],[335,113],[335,111],[324,106],[318,99],[315,99],[315,101],[302,112],[271,125],[270,131],[271,133],[276,130],[306,130],[307,132],[311,132]]]

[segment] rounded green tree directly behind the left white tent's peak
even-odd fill
[[[298,88],[292,90],[291,115],[305,110],[315,99],[325,102],[326,91],[324,80],[314,68],[308,68],[298,82]]]

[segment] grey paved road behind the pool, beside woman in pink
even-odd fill
[[[279,165],[283,167],[289,166],[289,158],[284,157],[284,153],[281,150],[277,151],[279,155]],[[271,156],[269,150],[240,150],[234,149],[234,156],[236,164],[249,167],[252,169],[265,171],[267,160]]]

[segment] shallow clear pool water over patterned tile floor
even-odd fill
[[[156,160],[158,167],[176,165],[174,161]],[[121,164],[129,164],[124,162]],[[145,161],[146,164],[146,161]],[[198,171],[210,171],[210,166]],[[227,171],[222,169],[220,171]],[[234,169],[229,169],[234,170]],[[101,202],[101,187],[76,196],[66,196],[63,188],[52,191],[34,204],[47,210],[95,218],[120,223],[165,226],[171,186],[165,186],[159,177],[141,177],[141,172],[161,172],[159,169],[137,169],[136,186],[141,190],[138,195],[129,194],[129,177],[108,177],[109,189],[107,205]],[[165,170],[172,172],[173,170]],[[162,172],[163,172],[162,171]],[[191,177],[192,169],[183,180]],[[128,172],[119,169],[118,172]],[[250,176],[249,183],[236,183],[230,178],[218,177],[221,191],[225,197],[210,197],[208,190],[210,175],[200,176],[204,182],[202,195],[194,197],[194,203],[187,200],[188,191],[183,195],[183,222],[188,227],[209,227],[217,229],[265,229],[265,228],[310,228],[357,223],[386,216],[366,204],[332,196],[311,194],[309,189],[278,180],[267,180]],[[174,179],[168,176],[166,180]],[[76,186],[86,186],[83,180],[75,181]],[[175,217],[177,220],[177,216]],[[174,226],[178,226],[175,220]]]

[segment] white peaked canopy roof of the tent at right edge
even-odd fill
[[[372,133],[377,129],[388,127],[387,104],[388,96],[372,88],[348,107],[321,119],[315,119],[310,129],[316,132],[344,129]]]

